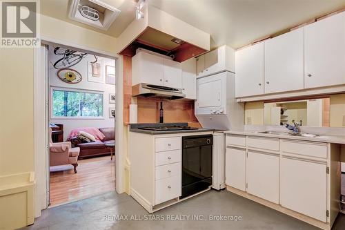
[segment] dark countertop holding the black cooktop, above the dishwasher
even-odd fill
[[[188,126],[188,123],[141,123],[130,124],[130,132],[145,133],[149,135],[170,134],[170,133],[199,133],[199,132],[213,132],[214,129],[199,128],[199,129],[186,129],[186,130],[174,130],[174,131],[152,131],[140,129],[140,127],[161,127],[161,126]]]

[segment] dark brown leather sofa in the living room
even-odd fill
[[[81,143],[81,140],[78,137],[74,136],[68,138],[75,147],[80,148],[79,160],[88,157],[110,155],[110,149],[106,147],[106,144],[115,143],[115,128],[99,128],[99,131],[104,135],[104,137],[96,142]]]

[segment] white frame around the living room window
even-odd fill
[[[102,107],[102,116],[101,117],[55,117],[53,116],[53,102],[52,102],[52,93],[54,90],[60,90],[60,91],[69,91],[69,92],[75,92],[75,93],[97,93],[102,95],[102,102],[103,102],[103,107]],[[101,90],[86,90],[86,89],[81,89],[81,88],[63,88],[63,87],[55,87],[51,86],[50,87],[50,119],[105,119],[104,117],[104,111],[105,111],[105,100],[104,100],[104,91]]]

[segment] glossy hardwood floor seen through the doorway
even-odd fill
[[[73,166],[55,166],[50,170],[50,205],[115,190],[115,160],[110,156],[79,160],[78,173]],[[66,171],[56,171],[68,167]]]

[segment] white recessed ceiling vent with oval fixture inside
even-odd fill
[[[69,17],[89,26],[108,30],[119,13],[120,10],[101,0],[72,0]]]

